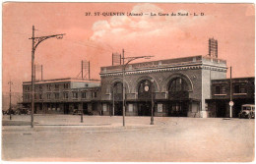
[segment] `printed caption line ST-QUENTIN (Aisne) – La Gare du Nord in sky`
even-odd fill
[[[86,12],[85,16],[204,16],[204,13],[125,13],[125,12]]]

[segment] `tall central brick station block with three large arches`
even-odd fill
[[[123,66],[101,67],[103,115],[122,115]],[[211,82],[223,80],[226,62],[192,56],[129,64],[125,68],[126,116],[209,117]],[[152,103],[153,102],[153,103]]]

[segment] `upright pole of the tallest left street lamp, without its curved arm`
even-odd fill
[[[33,80],[34,80],[34,74],[33,74],[33,64],[34,63],[34,26],[32,26],[32,128],[33,128]]]

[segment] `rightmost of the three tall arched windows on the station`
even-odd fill
[[[187,117],[189,109],[188,83],[180,77],[170,80],[168,85],[168,116]]]

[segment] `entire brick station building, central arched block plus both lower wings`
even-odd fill
[[[230,80],[226,62],[192,56],[127,65],[125,115],[159,117],[229,117]],[[35,81],[34,113],[121,116],[123,66],[100,68],[100,81],[55,79]],[[255,78],[232,79],[232,116],[243,104],[254,104]],[[32,84],[23,82],[23,106],[31,108]]]

